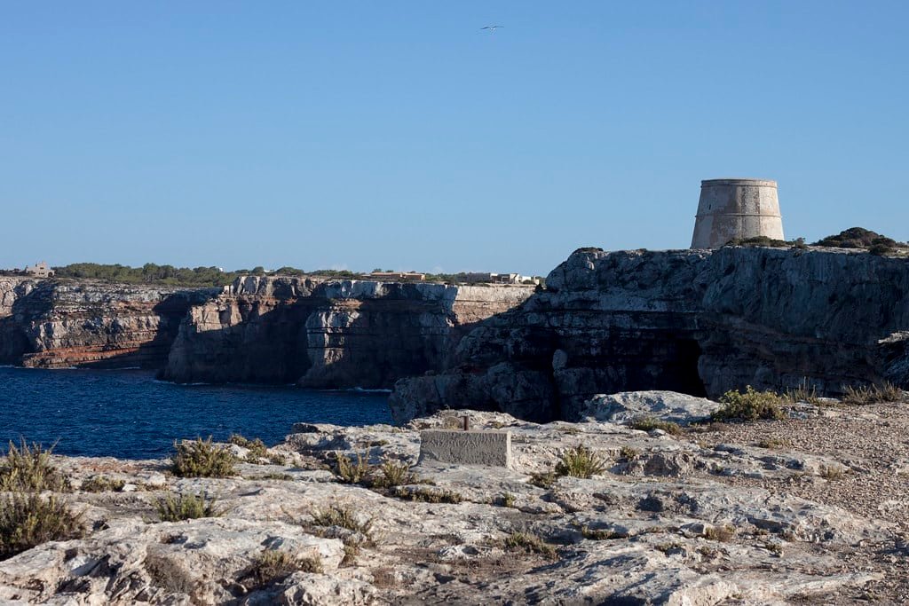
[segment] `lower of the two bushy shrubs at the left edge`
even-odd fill
[[[13,492],[0,497],[0,560],[47,541],[78,539],[85,535],[82,514],[65,500],[35,492]]]

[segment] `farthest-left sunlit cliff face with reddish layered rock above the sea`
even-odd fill
[[[215,293],[0,278],[0,363],[159,368],[187,310]]]

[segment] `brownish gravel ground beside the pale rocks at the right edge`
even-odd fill
[[[788,492],[895,522],[892,540],[858,545],[843,553],[844,568],[883,571],[884,581],[864,591],[827,596],[820,603],[909,603],[909,403],[824,406],[804,419],[714,423],[692,437],[707,444],[751,444],[776,452],[820,454],[841,463],[842,469],[833,469],[826,479],[794,472],[775,482],[741,477],[722,481]]]

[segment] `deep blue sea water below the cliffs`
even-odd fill
[[[175,385],[145,371],[0,368],[0,445],[25,437],[59,454],[163,457],[175,438],[284,439],[295,422],[391,422],[386,393]]]

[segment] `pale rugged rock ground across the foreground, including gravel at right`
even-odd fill
[[[595,399],[576,423],[446,411],[403,428],[300,424],[262,458],[231,446],[255,462],[228,479],[176,478],[166,461],[58,457],[75,489],[65,498],[90,531],[0,562],[0,602],[909,599],[907,405],[802,403],[783,421],[676,434],[629,426],[642,414],[685,425],[716,406],[648,392]],[[336,457],[357,454],[415,464],[420,430],[464,414],[474,429],[512,432],[513,469],[425,461],[415,479],[386,488],[333,471]],[[551,473],[579,444],[604,470]],[[80,490],[105,486],[116,492]],[[155,503],[170,492],[216,496],[223,514],[158,522]],[[264,551],[287,551],[305,570],[264,577]]]

